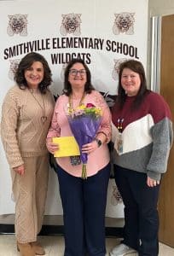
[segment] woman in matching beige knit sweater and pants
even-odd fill
[[[15,201],[15,236],[21,256],[44,255],[37,241],[44,218],[49,159],[45,145],[55,101],[43,55],[29,53],[3,101],[1,135]]]

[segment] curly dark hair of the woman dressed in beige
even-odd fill
[[[47,90],[47,87],[51,84],[52,82],[52,73],[49,68],[48,62],[45,60],[43,55],[40,55],[36,52],[31,52],[27,55],[25,55],[21,61],[20,64],[16,70],[16,73],[14,74],[14,81],[17,83],[17,85],[20,87],[20,89],[26,89],[28,87],[26,83],[26,79],[24,76],[24,73],[27,68],[31,67],[33,62],[39,61],[43,64],[44,66],[44,79],[43,81],[38,84],[38,89],[40,90],[41,93],[45,93]]]

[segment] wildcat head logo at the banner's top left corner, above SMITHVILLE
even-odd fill
[[[27,15],[8,15],[9,26],[7,33],[10,37],[14,34],[20,34],[20,36],[27,36]]]

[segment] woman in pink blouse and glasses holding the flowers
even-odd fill
[[[66,109],[91,103],[102,109],[101,125],[96,137],[84,144],[82,152],[88,154],[87,179],[81,178],[82,163],[73,157],[56,158],[65,228],[64,256],[104,256],[105,209],[110,164],[107,143],[111,137],[111,116],[102,95],[90,82],[90,70],[83,60],[74,59],[67,65],[63,95],[55,104],[55,112],[47,136],[47,148],[54,154],[59,145],[52,137],[73,136]]]

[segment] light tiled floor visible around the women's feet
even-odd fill
[[[40,243],[44,246],[45,256],[63,256],[64,239],[62,236],[39,236]],[[119,239],[107,238],[107,256],[110,250],[119,243]],[[0,256],[19,256],[16,250],[14,235],[0,236]],[[173,256],[174,248],[159,244],[159,256]],[[136,256],[130,253],[128,256]]]

